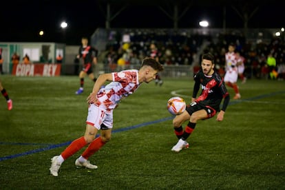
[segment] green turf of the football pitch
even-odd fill
[[[240,84],[242,100],[231,98],[220,123],[215,118],[199,121],[189,149],[178,154],[171,151],[178,140],[167,100],[178,90],[189,103],[193,80],[165,78],[162,87],[144,83],[114,111],[112,140],[89,158],[98,169],[76,168],[82,149],[63,163],[57,178],[50,175],[50,158],[84,134],[92,81],[85,78],[79,96],[74,94],[77,76],[4,75],[1,81],[14,103],[8,111],[0,99],[1,189],[285,187],[284,81]],[[228,90],[233,97],[233,89]],[[123,130],[142,123],[148,125]]]

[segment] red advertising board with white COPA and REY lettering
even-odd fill
[[[60,76],[61,64],[36,63],[13,65],[12,75],[15,76]]]

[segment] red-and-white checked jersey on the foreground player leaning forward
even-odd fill
[[[114,109],[123,97],[133,94],[140,86],[138,70],[113,72],[112,76],[113,81],[99,90],[97,94],[98,101],[95,103],[98,107],[107,111]]]

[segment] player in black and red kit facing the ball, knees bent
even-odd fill
[[[195,85],[193,87],[191,103],[187,105],[185,112],[173,119],[174,132],[179,140],[171,151],[179,152],[182,148],[189,147],[186,140],[195,129],[198,120],[212,118],[217,112],[219,112],[217,116],[218,121],[224,118],[224,112],[229,105],[230,97],[224,85],[224,81],[218,72],[214,70],[215,64],[213,61],[214,57],[212,54],[207,53],[202,55],[202,69],[194,76]],[[200,96],[196,98],[200,85],[202,92]],[[223,98],[224,102],[220,110],[220,103]],[[183,131],[182,123],[187,120],[189,120],[189,123]]]

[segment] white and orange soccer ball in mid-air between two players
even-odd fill
[[[186,109],[186,103],[183,98],[175,96],[167,101],[168,112],[174,116],[182,114]]]

